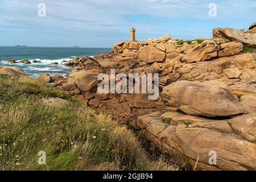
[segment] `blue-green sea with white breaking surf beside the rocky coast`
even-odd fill
[[[111,48],[60,48],[60,47],[0,47],[0,65],[19,67],[30,76],[38,77],[40,73],[49,75],[64,75],[71,72],[71,68],[61,64],[77,56],[94,56],[109,52]],[[42,63],[9,64],[6,60],[40,60]],[[57,62],[59,65],[51,63]]]

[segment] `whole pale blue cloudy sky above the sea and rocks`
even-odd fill
[[[0,46],[112,47],[129,40],[131,27],[138,41],[212,38],[215,27],[247,29],[255,21],[255,0],[0,0]]]

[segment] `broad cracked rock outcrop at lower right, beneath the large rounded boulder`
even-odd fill
[[[165,121],[170,121],[166,123]],[[130,118],[129,125],[147,147],[188,169],[255,170],[256,114],[214,120],[177,111]],[[210,157],[216,154],[217,163]]]

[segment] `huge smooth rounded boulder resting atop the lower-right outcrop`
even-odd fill
[[[167,105],[186,114],[221,117],[245,113],[228,86],[219,81],[177,81],[166,86],[162,96]]]

